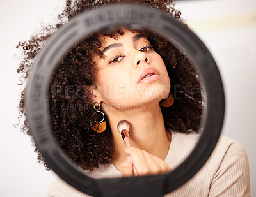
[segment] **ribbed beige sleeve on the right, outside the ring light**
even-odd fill
[[[209,196],[250,196],[250,171],[241,143],[221,135],[207,163],[213,173]]]

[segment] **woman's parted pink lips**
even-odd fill
[[[151,75],[151,76],[146,77],[147,75]],[[143,71],[141,71],[137,83],[144,84],[147,82],[153,82],[159,78],[160,78],[160,75],[159,75],[158,71],[155,68],[149,67],[149,68],[143,69]]]

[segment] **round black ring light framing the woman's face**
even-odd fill
[[[202,135],[186,160],[170,173],[115,179],[86,176],[62,152],[54,140],[47,110],[47,87],[56,65],[65,52],[89,33],[147,28],[166,36],[179,48],[186,49],[204,84],[204,121]],[[163,196],[184,184],[211,155],[220,136],[224,118],[224,92],[220,73],[204,43],[186,26],[163,11],[141,4],[111,4],[75,17],[60,28],[35,62],[26,89],[26,110],[31,135],[47,164],[71,186],[92,196]]]

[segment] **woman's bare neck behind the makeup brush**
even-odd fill
[[[172,135],[164,127],[163,114],[159,104],[154,106],[145,105],[145,108],[131,109],[125,111],[115,110],[108,112],[110,128],[113,134],[115,153],[112,161],[117,167],[127,157],[124,152],[124,141],[118,132],[117,124],[120,120],[131,122],[132,128],[129,131],[132,147],[145,150],[165,160]]]

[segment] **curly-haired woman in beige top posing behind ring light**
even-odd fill
[[[64,24],[65,18],[107,3],[115,2],[67,1],[56,27]],[[147,4],[182,22],[170,1],[122,3]],[[25,73],[24,78],[44,40],[55,30],[46,28],[47,34],[18,45],[26,50],[18,69]],[[143,75],[147,71],[154,75]],[[200,87],[188,58],[157,34],[124,27],[93,33],[77,43],[54,71],[49,88],[52,130],[67,156],[95,179],[132,176],[133,167],[138,175],[167,173],[188,156],[198,139]],[[175,97],[173,105],[168,105],[168,99],[173,98],[170,92]],[[104,124],[95,124],[100,121],[93,115],[95,111],[104,114]],[[24,91],[20,112],[25,112]],[[116,128],[123,119],[132,124],[129,134],[133,147],[127,149]],[[29,134],[26,120],[24,125],[22,129]],[[40,152],[38,159],[44,161]],[[248,158],[241,144],[221,136],[200,171],[166,196],[250,196],[248,176]],[[47,196],[76,194],[88,196],[58,179]]]

